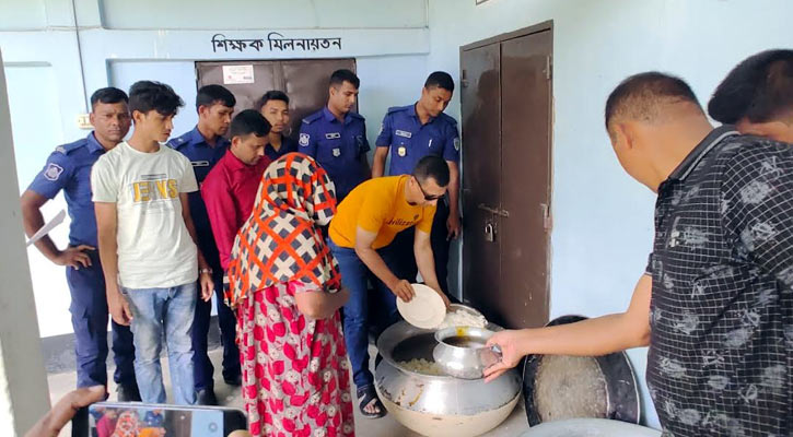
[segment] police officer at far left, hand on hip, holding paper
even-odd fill
[[[77,345],[77,386],[107,385],[107,297],[105,275],[96,250],[96,216],[91,201],[91,167],[129,131],[127,94],[118,88],[97,90],[91,96],[91,123],[86,138],[56,147],[44,169],[22,193],[22,217],[31,236],[44,225],[40,208],[63,190],[71,217],[69,246],[59,250],[48,236],[35,243],[50,261],[66,265],[71,293],[71,322]],[[112,322],[113,355],[119,401],[140,401],[135,379],[135,346],[129,327]]]

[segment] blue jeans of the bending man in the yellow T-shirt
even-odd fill
[[[369,330],[370,326],[375,328],[375,336],[380,335],[386,328],[399,321],[399,312],[396,308],[396,296],[380,280],[374,279],[374,293],[370,295],[366,281],[370,277],[369,268],[358,258],[354,249],[336,246],[328,238],[328,246],[336,261],[339,262],[341,272],[341,284],[350,292],[350,299],[347,300],[343,311],[345,342],[347,353],[352,365],[352,380],[355,387],[362,389],[372,386],[374,377],[369,370]],[[398,258],[393,249],[385,247],[377,250],[388,269],[395,274],[401,269],[397,265]],[[374,277],[374,275],[371,275]],[[370,320],[370,299],[378,305],[375,309],[377,315]]]

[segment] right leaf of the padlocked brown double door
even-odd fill
[[[497,306],[513,327],[548,321],[550,56],[550,31],[501,44],[501,282],[509,292]]]

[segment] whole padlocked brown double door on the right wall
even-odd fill
[[[548,321],[551,32],[460,49],[463,298],[510,328]]]

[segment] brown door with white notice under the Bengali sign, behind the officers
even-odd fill
[[[254,83],[223,83],[223,66],[250,66],[254,68]],[[355,71],[355,60],[300,59],[284,61],[228,61],[196,62],[198,87],[219,84],[228,87],[237,104],[235,113],[257,109],[255,105],[261,95],[270,90],[280,90],[289,95],[290,126],[288,135],[296,140],[303,118],[320,109],[328,99],[328,80],[338,69]],[[353,110],[358,110],[357,107]]]

